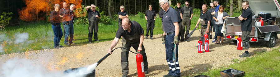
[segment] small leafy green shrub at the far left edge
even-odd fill
[[[12,16],[11,17],[9,17],[8,15],[11,15],[11,14],[13,14],[12,12],[10,12],[10,13],[5,13],[5,12],[3,12],[2,13],[3,15],[1,15],[0,17],[0,27],[1,27],[1,30],[2,30],[2,28],[4,28],[5,29],[5,26],[7,26],[8,24],[9,24],[9,20],[11,20],[12,19]]]

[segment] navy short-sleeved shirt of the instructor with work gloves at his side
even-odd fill
[[[163,29],[165,33],[170,33],[175,31],[174,22],[178,22],[178,15],[176,10],[174,10],[171,6],[166,10],[163,14]]]

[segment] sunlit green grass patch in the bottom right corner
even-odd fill
[[[278,77],[280,76],[280,53],[278,48],[273,48],[272,51],[262,51],[260,55],[254,55],[252,58],[246,58],[243,61],[234,59],[231,62],[236,62],[228,67],[220,67],[217,69],[208,70],[199,75],[208,75],[210,77],[221,76],[219,71],[229,68],[244,71],[243,77]]]

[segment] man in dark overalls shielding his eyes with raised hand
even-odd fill
[[[94,30],[94,41],[99,42],[97,39],[98,32],[98,22],[100,19],[99,11],[95,10],[95,5],[91,4],[91,6],[86,6],[86,11],[88,14],[88,43],[92,42],[92,34]],[[91,9],[89,9],[91,8]]]

